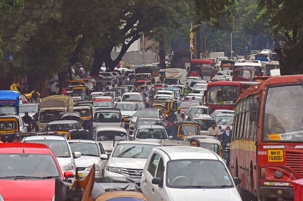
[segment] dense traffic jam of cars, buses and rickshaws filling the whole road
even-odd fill
[[[83,68],[62,88],[49,80],[46,97],[12,83],[0,91],[0,200],[293,199],[303,76],[266,76],[273,63]]]

